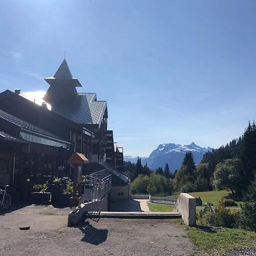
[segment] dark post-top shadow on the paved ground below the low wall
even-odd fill
[[[89,221],[83,222],[78,228],[84,234],[81,241],[91,243],[92,245],[100,245],[108,237],[108,229],[96,229],[90,225]]]

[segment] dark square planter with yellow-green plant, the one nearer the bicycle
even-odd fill
[[[32,187],[31,201],[34,204],[50,204],[51,192],[48,191],[48,183],[34,184]]]

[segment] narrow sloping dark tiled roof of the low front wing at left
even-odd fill
[[[23,121],[22,119],[19,119],[18,117],[15,117],[14,115],[6,113],[1,109],[0,109],[0,118],[5,119],[6,121],[9,121],[11,123],[14,123],[15,125],[22,127],[22,129],[32,131],[34,133],[38,133],[41,135],[45,135],[47,137],[61,139],[61,138],[57,137],[56,135],[53,135],[52,133],[48,133],[48,131],[45,131],[35,125],[32,125],[31,123]]]

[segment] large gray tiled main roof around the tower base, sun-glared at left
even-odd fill
[[[33,92],[20,92],[20,96],[31,100]],[[35,92],[36,93],[36,92]],[[36,95],[38,97],[38,95]],[[35,98],[36,98],[35,97]],[[43,100],[39,100],[42,102]],[[51,106],[51,110],[79,124],[98,125],[107,108],[106,101],[97,101],[96,93],[78,93],[77,100]]]

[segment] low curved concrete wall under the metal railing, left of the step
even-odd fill
[[[76,226],[85,218],[87,212],[107,212],[109,195],[102,200],[81,204],[68,214],[68,226]]]

